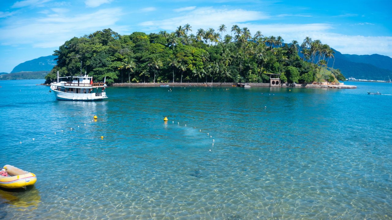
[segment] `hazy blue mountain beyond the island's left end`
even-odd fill
[[[34,60],[29,60],[24,63],[20,63],[11,71],[11,73],[22,72],[22,71],[24,72],[50,71],[53,69],[53,66],[57,64],[56,61],[54,61],[54,58],[57,58],[57,56],[53,56],[53,55],[42,56]]]

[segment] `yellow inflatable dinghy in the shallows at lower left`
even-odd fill
[[[0,186],[4,188],[26,187],[33,185],[37,181],[34,173],[20,170],[15,166],[5,165],[0,171],[2,174],[0,175]]]

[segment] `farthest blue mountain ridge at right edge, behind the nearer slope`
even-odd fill
[[[372,55],[351,55],[351,54],[343,54],[348,60],[355,63],[368,63],[372,64],[381,69],[392,70],[392,58],[389,56],[383,56],[379,54]]]

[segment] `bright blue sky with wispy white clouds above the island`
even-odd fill
[[[343,54],[392,57],[391,8],[391,0],[2,0],[0,72],[105,28],[148,34],[186,23],[193,32],[225,24],[223,35],[231,34],[236,24],[252,34],[282,36],[286,43],[309,36]]]

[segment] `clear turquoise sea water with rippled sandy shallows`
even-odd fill
[[[0,189],[0,218],[391,219],[392,96],[367,92],[392,84],[112,87],[73,102],[37,83],[0,81],[1,165],[38,177]]]

